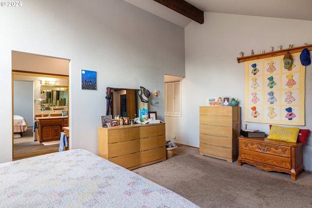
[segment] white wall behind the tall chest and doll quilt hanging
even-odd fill
[[[271,46],[288,48],[312,44],[312,21],[262,18],[252,16],[205,13],[205,23],[192,22],[185,28],[186,78],[182,79],[182,117],[171,117],[175,124],[177,143],[199,147],[199,106],[206,105],[206,97],[230,95],[239,98],[244,118],[244,63],[236,57],[244,52],[250,56]],[[312,130],[312,65],[306,67],[306,126]],[[166,122],[168,123],[168,117]],[[242,119],[242,126],[245,122]],[[247,123],[248,128],[269,133],[269,124]],[[168,130],[168,125],[166,126]],[[304,166],[312,170],[312,135],[303,147]]]

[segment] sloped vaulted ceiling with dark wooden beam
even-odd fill
[[[171,21],[181,27],[186,27],[192,20],[197,21],[197,16],[199,15],[200,11],[312,21],[312,0],[124,1],[127,1],[128,3],[155,14],[158,17]],[[196,10],[199,11],[196,12]],[[197,22],[200,22],[200,20]]]

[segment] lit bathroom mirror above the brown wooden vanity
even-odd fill
[[[49,106],[68,106],[68,87],[41,85],[41,94],[46,96],[41,101],[41,108]]]

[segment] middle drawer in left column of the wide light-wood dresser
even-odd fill
[[[108,157],[116,157],[140,151],[140,140],[108,144]]]

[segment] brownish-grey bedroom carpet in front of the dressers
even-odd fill
[[[292,181],[290,174],[201,156],[188,146],[179,146],[171,159],[133,171],[202,208],[312,207],[310,171]]]

